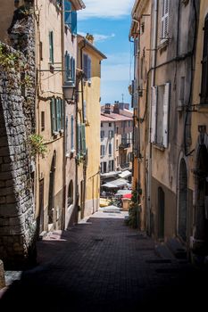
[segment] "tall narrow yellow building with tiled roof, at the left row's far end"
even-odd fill
[[[100,80],[105,55],[93,45],[93,37],[78,37],[78,193],[80,218],[99,208],[100,194]]]

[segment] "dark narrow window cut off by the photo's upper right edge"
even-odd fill
[[[202,60],[201,103],[208,103],[208,14],[204,21],[204,51]]]

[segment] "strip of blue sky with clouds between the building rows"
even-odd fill
[[[78,31],[94,35],[96,47],[107,56],[102,62],[101,103],[130,103],[133,45],[129,43],[131,9],[135,0],[84,0],[78,12]],[[131,75],[130,75],[131,74]]]

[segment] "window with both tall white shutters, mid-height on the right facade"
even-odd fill
[[[151,142],[168,147],[169,103],[171,84],[152,88]]]

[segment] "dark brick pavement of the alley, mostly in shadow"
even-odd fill
[[[161,259],[154,241],[125,226],[123,217],[98,212],[37,242],[38,266],[6,291],[3,311],[14,302],[21,311],[200,308],[206,299],[204,274],[184,261]]]

